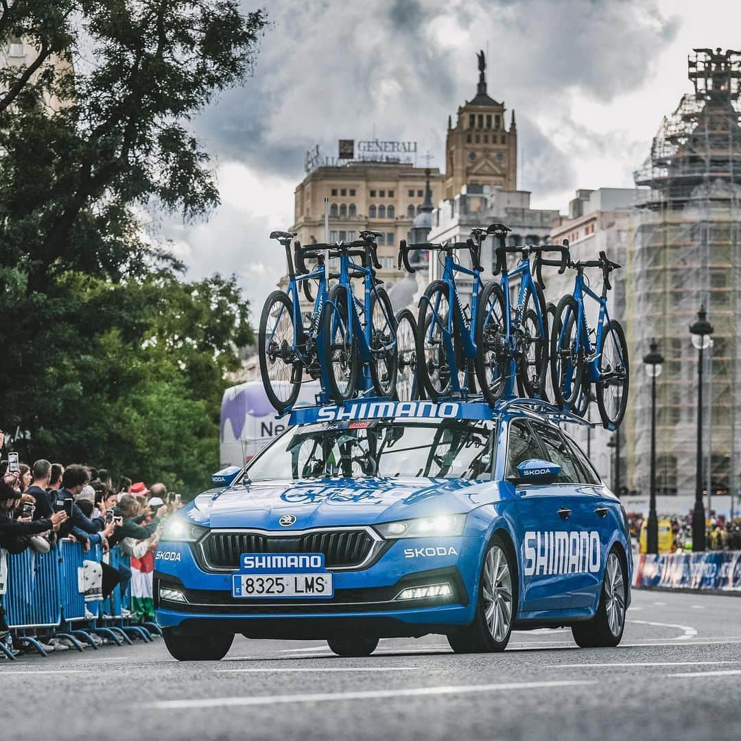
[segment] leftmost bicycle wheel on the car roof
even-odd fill
[[[275,307],[277,305],[281,305],[282,308],[276,310]],[[271,339],[270,343],[268,342],[268,334],[274,336],[275,329],[269,330],[268,323],[270,322],[271,313],[275,311],[279,312],[276,318],[276,324],[277,322],[281,322],[284,316],[288,317],[288,322],[290,323],[290,343],[288,337],[283,337],[277,343],[275,339]],[[262,376],[262,385],[265,387],[265,394],[268,396],[270,404],[279,413],[290,409],[296,403],[296,399],[299,398],[299,391],[301,391],[302,362],[296,359],[288,364],[285,362],[285,359],[279,358],[276,355],[277,352],[281,352],[283,356],[287,356],[289,348],[292,348],[295,344],[295,339],[296,327],[293,325],[293,304],[284,291],[274,290],[273,293],[270,293],[268,299],[265,300],[265,304],[262,307],[257,339],[257,353],[260,362],[260,376]],[[276,373],[280,371],[282,366],[290,368],[288,379],[276,378]]]

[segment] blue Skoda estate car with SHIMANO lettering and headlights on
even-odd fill
[[[167,524],[154,599],[176,659],[221,659],[235,634],[445,634],[502,651],[513,629],[620,642],[630,602],[625,511],[535,402],[346,402],[293,412],[244,471]]]

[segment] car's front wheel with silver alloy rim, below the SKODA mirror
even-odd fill
[[[481,567],[476,617],[471,625],[448,635],[456,654],[504,651],[517,612],[516,559],[511,544],[495,534]]]

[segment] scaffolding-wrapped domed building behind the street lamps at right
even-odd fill
[[[615,236],[625,253],[622,308],[633,365],[625,468],[628,487],[647,493],[651,385],[640,359],[656,338],[665,357],[657,383],[658,492],[694,495],[698,357],[689,325],[704,306],[714,333],[705,352],[702,480],[712,494],[734,494],[741,468],[741,52],[695,49],[688,77],[694,92],[662,121],[634,173],[645,195]]]

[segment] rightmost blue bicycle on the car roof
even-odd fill
[[[583,414],[594,383],[602,425],[614,429],[625,416],[630,374],[625,332],[619,322],[610,319],[607,308],[607,292],[612,288],[610,273],[621,266],[602,251],[599,260],[579,260],[569,267],[576,270],[574,292],[560,300],[551,332],[551,376],[556,403]],[[589,288],[585,268],[602,269],[601,295]],[[599,305],[596,332],[587,324],[585,296]]]

